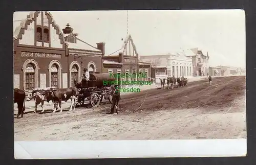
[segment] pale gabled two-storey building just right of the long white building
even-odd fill
[[[185,55],[192,58],[193,76],[205,76],[209,73],[209,55],[208,52],[199,50],[198,48],[185,50]]]

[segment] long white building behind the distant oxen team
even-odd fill
[[[140,56],[140,60],[150,62],[156,67],[156,83],[160,82],[159,78],[193,76],[192,58],[185,56],[183,51],[166,55]]]

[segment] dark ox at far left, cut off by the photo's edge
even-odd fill
[[[14,92],[14,103],[17,103],[17,105],[18,105],[17,118],[20,114],[22,114],[22,117],[23,117],[23,114],[25,111],[26,93],[24,90],[21,90],[18,88],[14,88],[13,92]]]

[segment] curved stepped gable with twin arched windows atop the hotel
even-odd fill
[[[37,28],[41,29],[41,38],[37,39]],[[45,33],[48,39],[44,40]],[[18,44],[44,46],[51,48],[65,49],[63,33],[54,21],[52,14],[48,11],[30,12],[26,19],[20,22],[13,33],[13,40]]]

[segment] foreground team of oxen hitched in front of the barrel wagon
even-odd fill
[[[14,103],[18,105],[18,114],[17,118],[21,114],[23,117],[25,111],[25,103],[26,101],[34,100],[35,101],[35,110],[37,110],[37,106],[41,103],[42,111],[41,113],[45,112],[44,109],[44,102],[53,102],[53,112],[56,112],[57,106],[59,105],[60,112],[61,109],[61,101],[67,102],[71,99],[71,106],[70,111],[75,110],[75,96],[76,96],[76,88],[69,87],[69,88],[55,88],[55,87],[48,87],[48,88],[36,88],[32,89],[32,91],[26,91],[18,88],[14,88]]]

